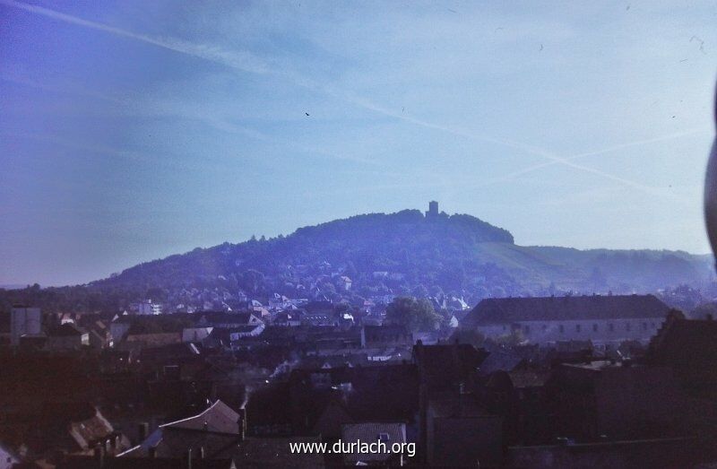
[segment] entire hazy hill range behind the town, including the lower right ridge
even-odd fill
[[[372,213],[296,230],[286,237],[196,248],[88,285],[0,290],[0,308],[126,308],[152,298],[202,308],[241,297],[363,300],[382,295],[487,297],[561,292],[653,292],[704,288],[712,261],[680,251],[522,247],[507,230],[471,215],[417,210]],[[350,279],[350,285],[346,279]]]

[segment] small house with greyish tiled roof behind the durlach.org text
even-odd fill
[[[377,442],[383,445],[376,445]],[[344,452],[351,444],[356,446]],[[361,445],[376,445],[377,450],[364,450]],[[344,465],[404,465],[408,457],[416,455],[415,445],[409,446],[404,423],[349,423],[341,429]],[[395,448],[405,451],[395,451]]]

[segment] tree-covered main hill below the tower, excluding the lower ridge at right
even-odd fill
[[[459,257],[471,256],[486,242],[513,244],[514,240],[509,231],[470,215],[428,217],[418,210],[371,213],[299,228],[287,237],[197,248],[135,265],[92,285],[185,286],[217,275],[241,276],[248,270],[263,274],[264,281],[267,275],[290,281],[299,270],[316,275],[345,271],[357,281],[361,274],[374,272],[444,275]]]

